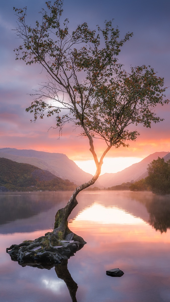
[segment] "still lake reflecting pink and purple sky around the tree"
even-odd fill
[[[87,244],[68,265],[47,270],[11,261],[6,247],[52,230],[70,194],[0,193],[0,301],[169,302],[170,196],[81,192],[69,228]],[[112,268],[124,275],[107,276]]]

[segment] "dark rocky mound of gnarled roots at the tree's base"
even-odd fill
[[[60,264],[64,259],[69,259],[86,242],[72,240],[74,233],[69,233],[64,240],[59,240],[55,234],[48,232],[33,240],[25,240],[20,244],[13,244],[6,249],[11,260],[18,261],[20,265],[41,266],[48,268]]]

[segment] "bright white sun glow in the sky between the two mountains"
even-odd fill
[[[104,173],[117,173],[130,165],[140,162],[142,157],[106,157],[103,159],[101,174]],[[92,175],[96,172],[96,165],[94,160],[74,160],[76,165],[83,171]]]

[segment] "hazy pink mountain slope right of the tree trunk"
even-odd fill
[[[141,162],[137,162],[136,164],[131,165],[130,167],[117,172],[117,173],[105,173],[99,176],[99,182],[102,186],[108,188],[115,185],[121,185],[123,182],[130,182],[131,180],[136,181],[137,179],[145,178],[145,173],[147,173],[147,167],[152,160],[157,159],[159,157],[164,157],[170,153],[168,152],[155,152],[150,154],[141,160]],[[142,177],[141,177],[142,176]]]

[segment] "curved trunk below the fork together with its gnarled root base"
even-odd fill
[[[26,242],[20,243],[19,245],[11,245],[6,249],[6,252],[11,255],[11,258],[17,259],[20,263],[23,263],[27,260],[26,258],[28,255],[30,257],[31,254],[36,251],[34,257],[30,258],[30,261],[34,259],[38,262],[50,261],[51,263],[54,262],[60,264],[60,262],[63,260],[63,252],[61,252],[61,255],[58,250],[58,248],[60,249],[60,245],[63,246],[65,243],[67,245],[67,242],[70,242],[69,245],[72,245],[71,242],[73,240],[73,246],[70,246],[70,252],[67,255],[68,257],[70,257],[73,252],[81,249],[86,242],[82,237],[71,232],[68,227],[67,219],[74,207],[76,207],[78,204],[76,199],[77,194],[83,189],[88,188],[90,185],[93,185],[99,177],[100,171],[101,165],[98,165],[96,174],[93,176],[93,178],[77,187],[66,206],[57,211],[57,214],[55,215],[54,230],[52,233],[47,232],[44,236],[41,236],[34,241],[26,240]],[[64,240],[64,243],[61,240]]]

